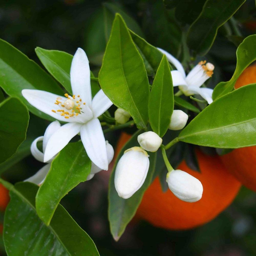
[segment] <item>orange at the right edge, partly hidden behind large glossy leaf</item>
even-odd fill
[[[235,89],[256,83],[256,66],[246,68],[238,78]],[[244,186],[256,191],[256,146],[243,147],[221,156],[228,171]]]

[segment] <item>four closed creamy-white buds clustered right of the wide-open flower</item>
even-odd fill
[[[174,110],[169,129],[180,130],[186,125],[187,120],[186,113]],[[115,170],[115,189],[124,199],[130,198],[140,189],[146,179],[150,165],[147,151],[156,152],[162,145],[162,138],[152,131],[138,135],[137,140],[141,147],[126,150]],[[196,202],[202,197],[201,182],[182,170],[169,170],[166,182],[173,194],[183,201]]]

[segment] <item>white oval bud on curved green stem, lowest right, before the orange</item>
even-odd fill
[[[196,202],[202,197],[201,182],[182,170],[173,170],[167,173],[166,182],[173,194],[182,201]]]

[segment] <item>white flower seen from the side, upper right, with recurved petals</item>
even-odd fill
[[[165,54],[168,61],[177,68],[177,70],[171,71],[173,86],[179,86],[179,89],[186,96],[199,94],[208,104],[212,103],[213,90],[210,88],[200,88],[200,86],[212,76],[214,65],[209,62],[206,63],[206,61],[200,61],[186,76],[184,68],[176,58],[161,48],[158,48],[158,50]]]

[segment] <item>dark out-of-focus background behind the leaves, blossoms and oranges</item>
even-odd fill
[[[196,4],[198,1],[194,2]],[[34,51],[37,46],[70,54],[82,47],[97,76],[106,46],[103,18],[106,9],[110,12],[118,11],[123,16],[129,15],[139,24],[139,33],[149,43],[183,59],[181,41],[186,25],[176,20],[172,10],[167,13],[162,1],[2,1],[0,38],[39,65],[40,61]],[[248,0],[235,17],[241,38],[255,34],[254,0]],[[227,40],[223,36],[224,30],[224,26],[219,29],[214,45],[207,54],[207,59],[221,67],[221,70],[216,68],[209,82],[210,87],[230,79],[236,65],[236,48],[241,38],[236,38],[237,41],[234,38]],[[32,114],[30,120],[27,143],[43,135],[48,125],[47,121]],[[116,132],[106,139],[115,146],[119,135]],[[2,166],[3,177],[15,183],[28,178],[41,166],[27,153],[22,161],[12,167]],[[74,220],[93,239],[100,255],[256,255],[256,196],[249,189],[242,187],[234,202],[204,226],[187,231],[171,231],[134,219],[121,239],[115,242],[109,231],[107,216],[108,179],[109,173],[100,172],[89,182],[81,183],[61,201]],[[3,215],[2,211],[1,221]],[[5,255],[2,240],[0,246],[1,255]]]

